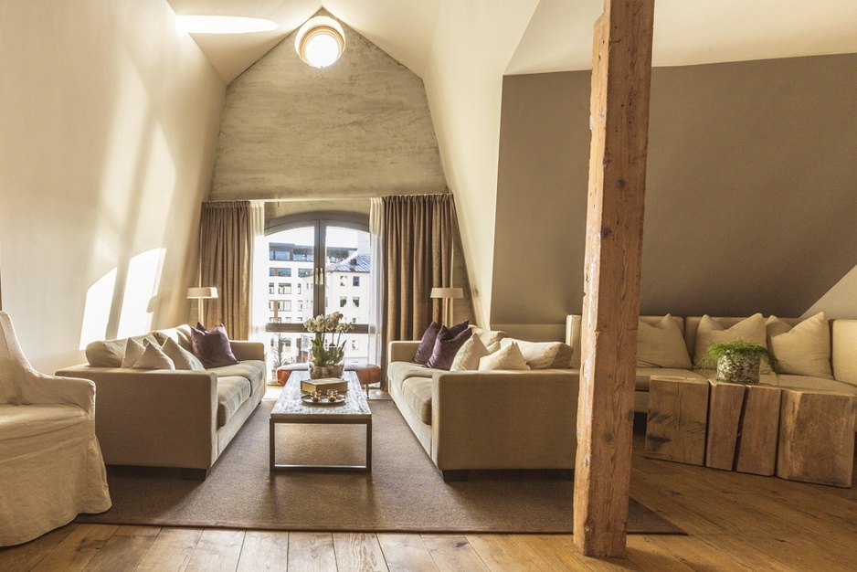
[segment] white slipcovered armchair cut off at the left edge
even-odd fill
[[[38,373],[0,312],[0,546],[110,507],[95,384]]]

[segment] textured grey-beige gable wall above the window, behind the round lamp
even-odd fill
[[[343,27],[329,68],[292,34],[229,84],[212,199],[446,192],[422,79]]]

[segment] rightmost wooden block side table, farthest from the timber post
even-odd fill
[[[777,476],[851,487],[857,397],[783,389]]]

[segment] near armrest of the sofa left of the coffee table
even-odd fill
[[[80,365],[57,372],[95,383],[104,462],[208,469],[217,459],[217,375]]]

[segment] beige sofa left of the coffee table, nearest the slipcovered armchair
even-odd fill
[[[160,332],[190,350],[189,326]],[[107,344],[123,347],[121,340]],[[176,467],[185,478],[204,480],[265,392],[265,344],[230,344],[238,365],[205,371],[77,365],[57,375],[95,382],[95,432],[105,463]]]

